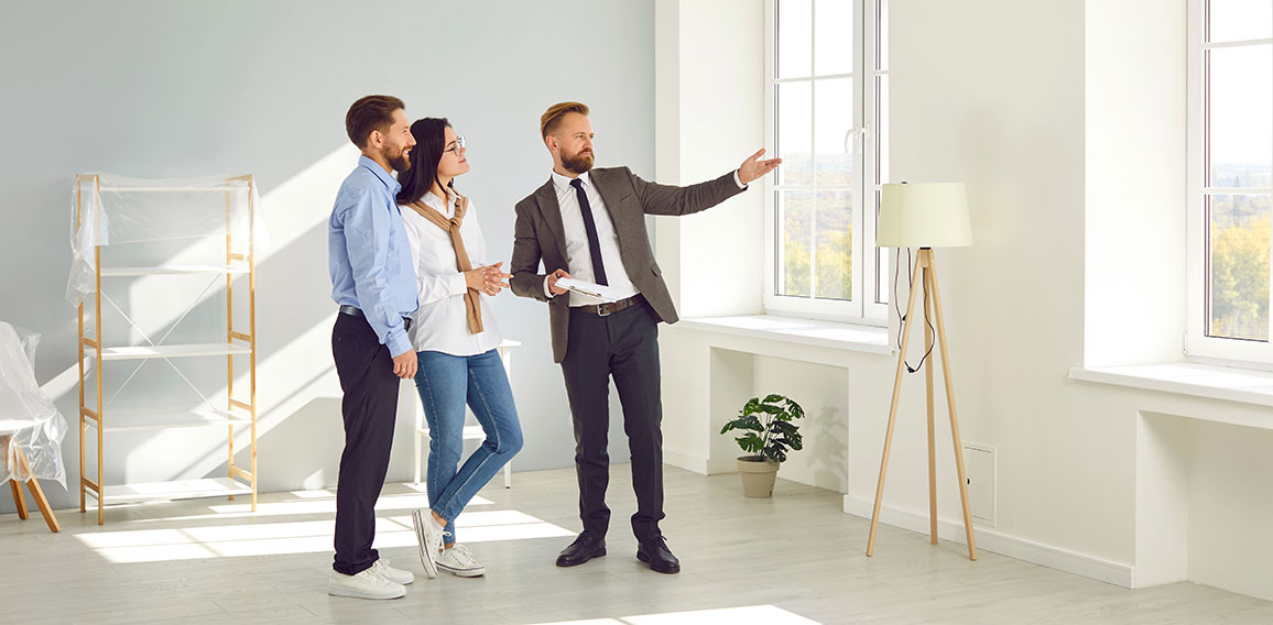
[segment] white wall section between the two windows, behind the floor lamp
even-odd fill
[[[1132,421],[1066,379],[1083,346],[1083,8],[913,1],[890,18],[890,172],[967,183],[974,246],[938,249],[938,276],[964,439],[998,448],[997,530],[1128,561]]]

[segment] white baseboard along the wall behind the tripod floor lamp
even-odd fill
[[[875,502],[852,499],[844,495],[844,512],[854,517],[871,518]],[[928,516],[913,512],[899,510],[885,507],[880,510],[880,522],[903,530],[910,530],[922,535],[928,533]],[[1009,536],[998,530],[974,526],[976,533],[976,549],[993,554],[1006,555],[1017,560],[1048,566],[1049,569],[1073,573],[1099,582],[1105,582],[1123,588],[1134,588],[1136,568],[1101,558],[1095,558],[1077,551],[1058,549],[1034,542],[1016,536]],[[937,537],[966,545],[964,537],[964,524],[961,522],[937,521]]]

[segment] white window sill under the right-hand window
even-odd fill
[[[1273,406],[1273,373],[1194,363],[1069,369],[1071,379]]]

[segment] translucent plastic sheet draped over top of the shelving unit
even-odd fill
[[[79,305],[97,289],[94,246],[230,234],[236,252],[248,234],[266,241],[256,185],[248,176],[141,179],[81,173],[71,190],[71,275],[66,299]]]

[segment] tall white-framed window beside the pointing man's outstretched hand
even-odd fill
[[[766,143],[783,164],[766,179],[765,309],[883,323],[887,0],[766,9]]]

